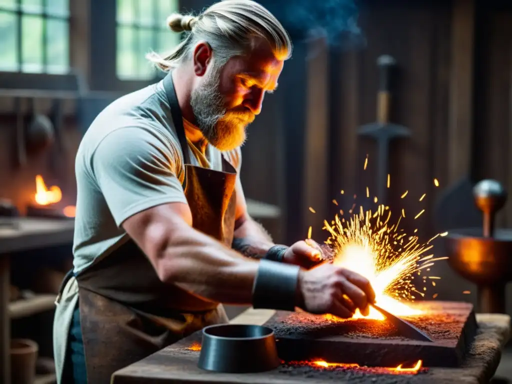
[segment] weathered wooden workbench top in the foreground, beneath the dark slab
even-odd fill
[[[265,324],[274,311],[248,309],[234,318],[237,324]],[[360,383],[360,382],[412,382],[412,383],[446,383],[446,384],[480,384],[493,377],[498,367],[501,349],[510,333],[510,316],[502,314],[477,315],[479,332],[468,356],[459,368],[431,368],[418,375],[350,375],[340,373],[333,381],[332,372],[325,375],[301,374],[293,376],[276,369],[259,374],[215,374],[197,368],[199,352],[187,349],[193,342],[200,342],[201,333],[195,333],[180,342],[164,348],[147,358],[116,372],[113,384],[135,383]],[[375,380],[373,380],[375,379]],[[373,380],[373,381],[372,381]]]

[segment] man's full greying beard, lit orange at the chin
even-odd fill
[[[219,74],[219,70],[212,71],[201,87],[192,91],[190,106],[205,139],[220,151],[231,151],[245,142],[247,124],[226,113],[218,92]]]

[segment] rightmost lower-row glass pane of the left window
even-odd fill
[[[67,20],[47,19],[48,46],[47,72],[66,74],[69,72],[69,24]]]

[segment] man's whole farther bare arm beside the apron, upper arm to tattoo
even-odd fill
[[[240,178],[237,180],[236,193],[237,221],[232,248],[249,258],[260,259],[274,243],[265,228],[249,216]]]

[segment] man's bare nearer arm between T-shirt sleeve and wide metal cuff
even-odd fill
[[[161,281],[211,301],[251,304],[259,263],[195,230],[191,221],[188,205],[170,203],[142,211],[122,226]]]

